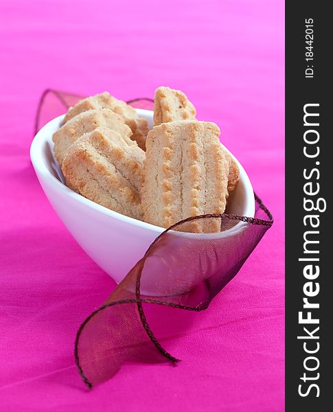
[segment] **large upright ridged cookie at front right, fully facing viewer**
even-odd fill
[[[150,130],[141,189],[143,220],[170,227],[190,216],[225,211],[229,160],[219,135],[216,124],[196,120],[163,123]],[[209,225],[194,220],[186,229],[219,230],[220,219]]]

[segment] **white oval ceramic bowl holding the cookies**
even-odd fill
[[[152,128],[152,111],[137,109],[137,113],[148,119]],[[78,244],[100,268],[119,283],[164,229],[97,205],[64,184],[62,172],[54,157],[52,141],[52,135],[60,127],[63,118],[64,115],[51,120],[34,137],[30,149],[34,170],[49,202]],[[227,212],[253,217],[255,200],[251,182],[242,165],[235,157],[233,159],[240,168],[240,181],[229,196]],[[243,229],[242,222],[239,222],[228,231],[207,234],[207,238],[227,237],[231,233],[234,236],[235,231]],[[196,234],[181,233],[179,236],[193,238]],[[149,285],[146,293],[156,295]]]

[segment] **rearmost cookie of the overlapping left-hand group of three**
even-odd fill
[[[110,108],[118,115],[122,116],[124,122],[132,130],[131,139],[137,141],[138,146],[145,150],[146,135],[148,133],[148,122],[143,117],[139,117],[135,109],[128,106],[122,100],[117,100],[111,96],[108,92],[100,93],[90,98],[86,98],[78,102],[75,106],[69,108],[64,122],[68,122],[74,116],[82,113],[83,111],[91,109]]]

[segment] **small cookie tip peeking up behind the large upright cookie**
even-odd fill
[[[170,87],[159,87],[154,95],[154,125],[192,120],[196,118],[196,109],[186,95]]]

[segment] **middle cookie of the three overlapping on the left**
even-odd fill
[[[100,126],[106,126],[115,130],[127,140],[130,140],[132,135],[132,130],[125,124],[122,116],[117,115],[109,108],[84,111],[69,119],[52,136],[54,155],[59,164],[62,165],[65,153],[74,141],[84,135],[84,133],[91,132]]]

